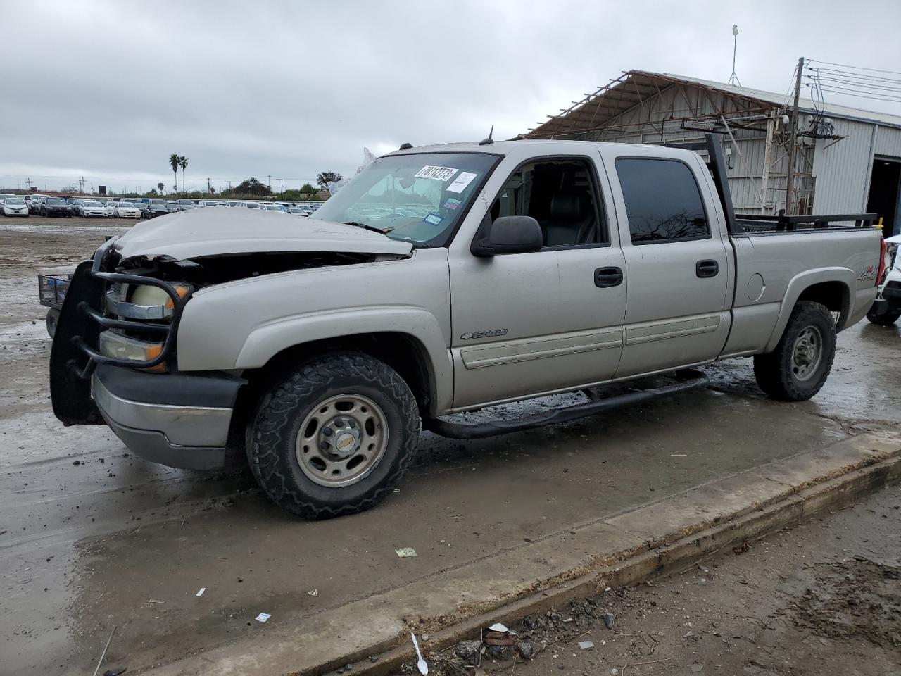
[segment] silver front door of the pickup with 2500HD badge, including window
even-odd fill
[[[625,264],[599,186],[587,157],[529,160],[506,179],[486,218],[534,217],[542,250],[451,256],[454,408],[613,377],[623,350]]]

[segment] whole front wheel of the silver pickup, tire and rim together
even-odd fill
[[[375,506],[419,437],[405,381],[357,352],[308,361],[271,388],[248,430],[250,469],[279,506],[321,519]]]

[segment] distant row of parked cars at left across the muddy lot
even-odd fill
[[[254,202],[213,199],[123,198],[101,201],[86,197],[0,194],[0,213],[5,216],[81,216],[83,218],[154,218],[177,211],[206,206],[232,206],[281,214],[313,215],[319,205],[297,202]]]

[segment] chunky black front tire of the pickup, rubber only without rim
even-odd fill
[[[298,435],[307,434],[301,426],[318,407],[341,397],[375,404],[387,440],[354,483],[322,485],[311,480],[308,460],[301,467],[305,442]],[[269,389],[250,421],[247,455],[260,487],[280,507],[308,519],[332,518],[369,509],[395,488],[413,460],[419,430],[413,393],[394,369],[366,354],[336,353],[306,361]]]

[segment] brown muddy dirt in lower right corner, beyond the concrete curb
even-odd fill
[[[899,506],[893,487],[683,571],[526,617],[507,627],[516,645],[480,657],[473,635],[426,653],[429,673],[897,676]]]

